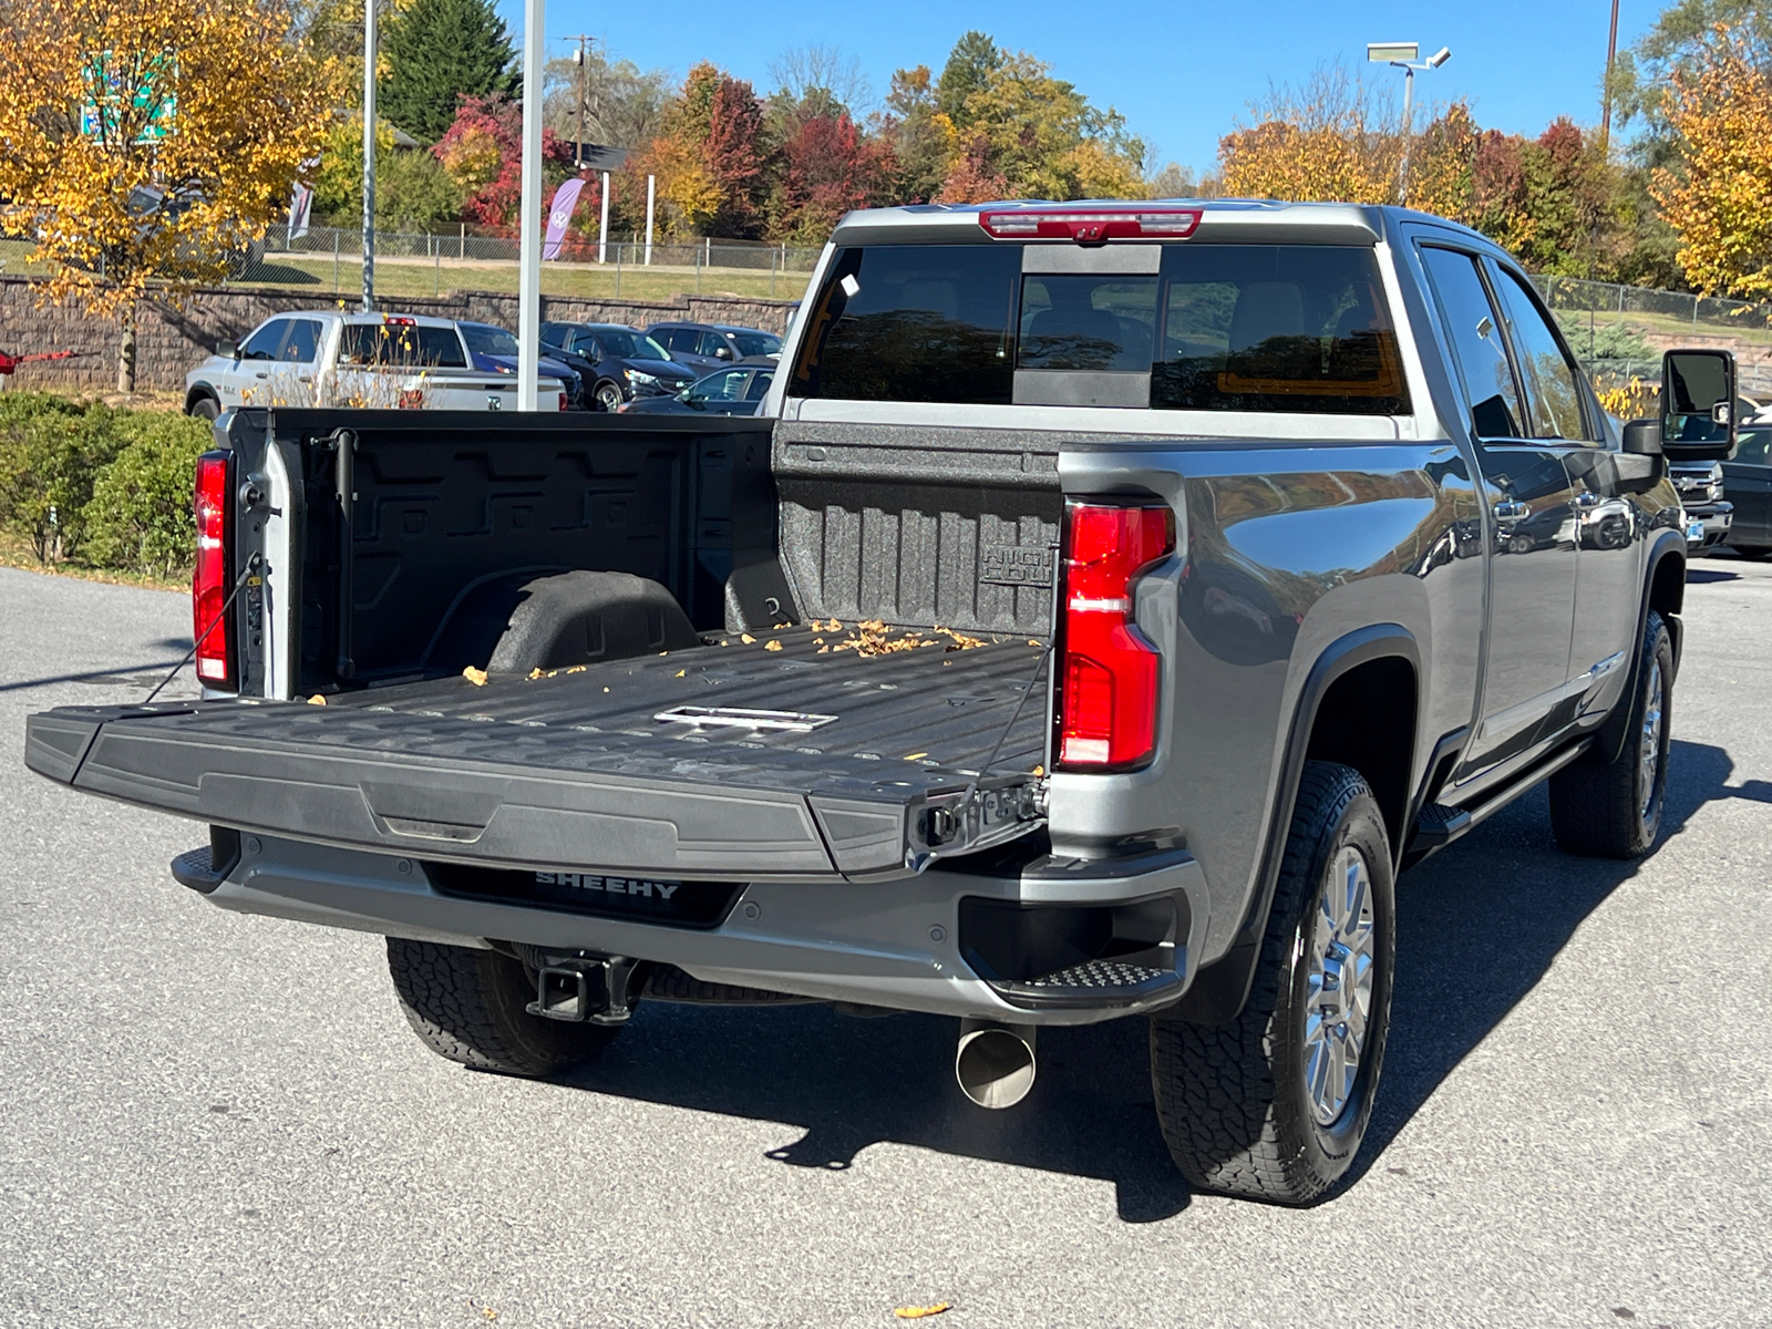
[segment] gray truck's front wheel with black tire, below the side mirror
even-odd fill
[[[1667,803],[1673,680],[1673,638],[1662,617],[1650,610],[1634,688],[1620,698],[1630,714],[1618,760],[1575,762],[1550,776],[1550,829],[1565,854],[1641,858],[1655,847]],[[1652,711],[1657,712],[1653,730]]]

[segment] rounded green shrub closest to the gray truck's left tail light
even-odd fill
[[[92,482],[85,558],[152,576],[191,565],[197,523],[191,480],[211,445],[209,425],[183,415],[133,415],[119,427],[122,448]]]

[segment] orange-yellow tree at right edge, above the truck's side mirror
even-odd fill
[[[1680,237],[1680,268],[1706,294],[1772,296],[1772,85],[1745,39],[1717,25],[1666,99],[1678,170],[1650,195]]]

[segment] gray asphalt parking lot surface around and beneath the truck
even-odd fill
[[[222,913],[198,828],[25,771],[186,599],[0,569],[0,1322],[1768,1324],[1772,565],[1696,562],[1687,627],[1659,851],[1565,858],[1540,792],[1405,875],[1364,1171],[1294,1212],[1189,1196],[1132,1021],[996,1115],[950,1021],[822,1006],[447,1063],[377,937]]]

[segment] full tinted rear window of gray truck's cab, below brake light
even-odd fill
[[[1136,276],[1024,276],[1019,245],[842,250],[789,392],[1008,404],[1049,370],[1148,376],[1154,409],[1409,411],[1377,255],[1329,245],[1166,245]]]

